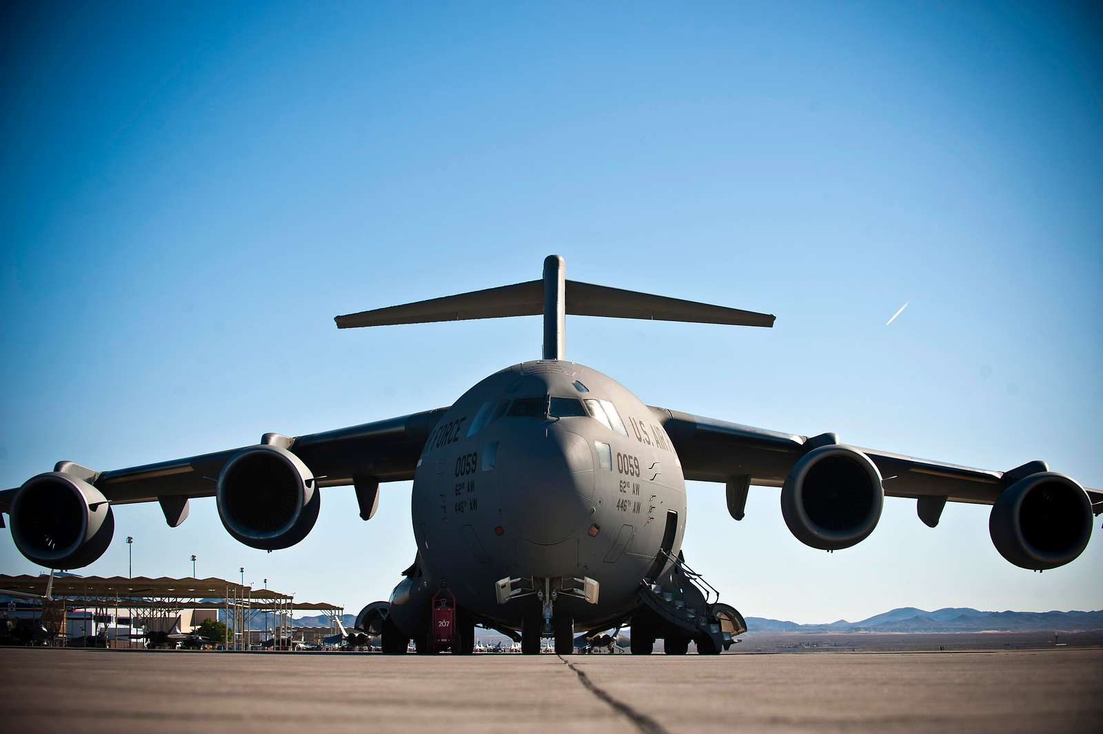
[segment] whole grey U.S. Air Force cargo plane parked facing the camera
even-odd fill
[[[567,361],[566,314],[772,326],[769,314],[544,277],[502,288],[336,317],[340,328],[544,315],[543,358],[486,377],[448,408],[201,456],[97,472],[60,462],[0,493],[15,546],[31,561],[77,569],[111,540],[113,506],[159,501],[176,527],[192,497],[216,498],[226,530],[277,550],[314,525],[325,487],[355,487],[375,514],[379,484],[413,479],[417,551],[389,602],[356,627],[387,652],[432,649],[432,609],[454,595],[458,646],[474,625],[542,637],[570,654],[574,633],[631,626],[631,651],[716,654],[746,630],[679,551],[685,482],[717,482],[739,520],[751,485],[781,488],[781,511],[803,543],[839,550],[877,527],[886,495],[915,500],[939,522],[946,501],[992,505],[992,541],[1011,563],[1045,570],[1084,550],[1103,492],[1031,461],[1007,472],[968,468],[690,415],[642,402],[607,375]],[[2,516],[0,516],[2,519]]]

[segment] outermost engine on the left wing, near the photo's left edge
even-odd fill
[[[94,562],[115,535],[115,515],[99,489],[61,472],[31,477],[11,505],[11,537],[29,561],[47,569]]]

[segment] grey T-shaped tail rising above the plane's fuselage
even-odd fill
[[[544,259],[544,278],[540,280],[361,311],[336,316],[334,321],[338,328],[355,328],[544,314],[544,359],[566,358],[564,332],[567,314],[730,326],[773,326],[772,314],[582,283],[567,280],[566,270],[561,257],[549,255]]]

